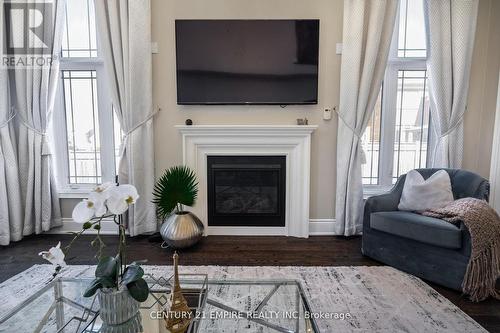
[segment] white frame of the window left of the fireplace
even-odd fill
[[[66,105],[64,96],[64,71],[95,71],[97,109],[99,122],[99,147],[101,164],[101,181],[114,181],[116,175],[115,161],[115,136],[113,106],[109,87],[106,84],[108,78],[104,60],[99,52],[99,38],[96,38],[97,57],[63,57],[60,52],[60,64],[58,73],[58,86],[55,96],[55,107],[53,115],[53,133],[56,138],[64,140],[53,140],[56,160],[57,190],[61,198],[83,198],[88,192],[95,188],[96,184],[73,184],[69,177],[68,156],[68,129],[66,125]]]

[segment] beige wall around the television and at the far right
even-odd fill
[[[311,214],[333,218],[336,119],[322,120],[324,107],[338,105],[343,0],[152,0],[153,98],[162,111],[155,121],[156,174],[182,162],[181,137],[173,127],[191,118],[196,124],[294,124],[307,117],[319,125],[312,140]],[[179,106],[176,104],[174,20],[196,18],[319,18],[319,104],[312,106]],[[500,61],[500,1],[480,0],[468,111],[464,167],[488,177]],[[335,118],[335,117],[334,117]],[[76,201],[63,202],[71,216]]]

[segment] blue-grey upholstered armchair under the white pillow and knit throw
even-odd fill
[[[418,169],[427,179],[440,169]],[[488,200],[486,179],[465,170],[445,169],[455,199]],[[365,203],[363,254],[440,285],[460,290],[471,252],[470,235],[463,224],[398,211],[406,175],[391,192]]]

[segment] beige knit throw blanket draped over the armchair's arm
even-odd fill
[[[500,217],[495,210],[486,201],[464,198],[422,214],[465,224],[471,236],[472,252],[462,291],[474,302],[489,296],[500,299],[500,290],[495,288],[500,277]]]

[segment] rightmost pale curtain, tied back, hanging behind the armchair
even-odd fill
[[[478,0],[426,0],[427,71],[436,140],[429,165],[460,168],[463,118],[474,47]]]

